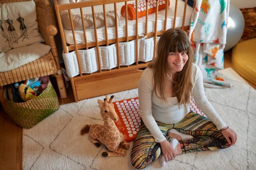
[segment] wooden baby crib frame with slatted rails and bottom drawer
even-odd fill
[[[118,37],[118,23],[117,23],[117,9],[116,9],[116,3],[124,2],[125,5],[125,36],[124,37]],[[138,0],[136,2],[136,9],[138,9]],[[175,27],[176,25],[176,14],[177,14],[177,6],[178,2],[180,0],[176,0],[175,2],[175,11],[172,14],[174,16],[172,27]],[[146,6],[148,6],[149,1],[146,0]],[[106,10],[105,5],[106,4],[113,4],[114,5],[114,11],[115,11],[115,36],[114,39],[108,39],[108,27],[106,22]],[[86,1],[86,2],[79,2],[79,3],[71,3],[71,4],[58,4],[57,0],[54,0],[54,6],[55,11],[59,23],[60,28],[60,34],[61,34],[61,40],[62,40],[62,46],[64,49],[64,54],[70,53],[74,51],[76,54],[76,60],[78,63],[78,69],[79,74],[71,77],[71,84],[72,89],[75,97],[75,101],[78,102],[79,100],[91,98],[95,96],[101,96],[105,94],[115,93],[118,91],[128,90],[128,89],[134,89],[138,87],[138,82],[140,79],[140,76],[143,72],[142,68],[145,68],[148,66],[148,62],[141,62],[138,60],[139,54],[138,54],[138,41],[143,37],[139,35],[138,33],[138,10],[136,11],[136,23],[135,23],[135,35],[128,36],[128,18],[127,18],[127,4],[128,0],[92,0],[92,1]],[[105,37],[106,39],[103,41],[98,41],[97,37],[97,28],[96,28],[96,19],[95,19],[95,12],[94,12],[94,6],[96,5],[102,5],[103,13],[104,13],[104,22],[105,22]],[[153,52],[153,58],[156,57],[156,42],[157,42],[157,36],[160,36],[166,31],[166,25],[167,25],[167,14],[168,14],[168,3],[165,3],[166,10],[165,10],[165,16],[164,16],[164,29],[161,31],[157,31],[157,22],[158,22],[158,6],[159,6],[159,0],[156,0],[156,12],[155,14],[155,28],[153,32],[148,32],[148,8],[146,8],[146,16],[145,16],[145,31],[144,36],[146,36],[146,39],[149,37],[153,37],[154,39],[154,52]],[[171,4],[174,5],[174,4]],[[83,36],[84,36],[84,43],[78,44],[76,42],[76,34],[75,29],[73,25],[73,20],[71,16],[71,9],[80,9],[81,16],[84,16],[83,8],[84,7],[91,7],[92,9],[92,16],[93,16],[93,24],[94,24],[94,36],[95,36],[95,42],[87,42],[87,35],[86,35],[86,29],[84,26],[84,20],[82,19],[83,24]],[[195,7],[195,1],[194,1],[194,7]],[[194,8],[193,7],[193,8]],[[188,31],[189,24],[185,25],[185,16],[186,16],[186,9],[187,9],[187,0],[185,0],[184,3],[184,10],[183,10],[183,17],[182,17],[182,25],[181,29],[184,31]],[[70,45],[66,43],[63,26],[60,18],[60,11],[62,10],[68,10],[69,14],[69,20],[70,25],[72,28],[72,35],[74,40],[74,45]],[[152,15],[152,14],[151,14]],[[189,18],[190,19],[190,18]],[[135,43],[135,62],[131,65],[127,66],[121,66],[120,65],[120,53],[119,53],[119,44],[121,42],[129,42],[131,40],[134,40]],[[109,46],[110,44],[116,44],[116,56],[117,56],[117,65],[115,68],[111,69],[102,69],[101,62],[100,62],[100,52],[99,48],[100,46]],[[81,69],[81,60],[79,57],[79,50],[85,49],[88,50],[92,47],[96,47],[96,59],[97,59],[97,67],[99,68],[98,71],[89,73],[89,74],[83,74]],[[150,62],[150,61],[149,61]],[[66,66],[67,67],[67,66]]]

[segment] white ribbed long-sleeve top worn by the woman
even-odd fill
[[[203,75],[200,68],[194,63],[192,66],[192,73],[193,72],[195,72],[196,76],[193,80],[192,95],[196,105],[207,117],[210,118],[210,120],[217,126],[218,130],[226,127],[226,124],[223,122],[205,96]],[[141,75],[138,92],[140,102],[140,117],[151,135],[155,138],[156,142],[162,142],[165,140],[165,137],[157,126],[156,121],[165,124],[177,123],[190,112],[188,105],[180,105],[179,107],[177,97],[168,97],[167,101],[169,103],[165,103],[164,99],[160,99],[156,96],[154,92],[152,68],[146,68]]]

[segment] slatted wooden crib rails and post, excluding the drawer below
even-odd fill
[[[135,24],[135,36],[128,36],[128,7],[127,7],[127,2],[131,0],[92,0],[92,1],[85,1],[85,2],[79,2],[79,3],[72,3],[72,4],[58,4],[57,0],[54,0],[54,6],[55,6],[55,11],[56,11],[56,16],[58,19],[58,24],[60,28],[60,34],[61,34],[61,40],[62,40],[62,46],[63,46],[63,51],[64,53],[69,53],[71,51],[76,52],[76,58],[78,62],[78,68],[79,68],[79,75],[74,77],[77,81],[83,81],[86,79],[92,79],[100,76],[105,76],[111,73],[111,75],[115,73],[121,74],[122,72],[129,72],[134,69],[140,69],[143,67],[147,67],[148,63],[147,62],[139,62],[139,56],[138,56],[138,40],[141,38],[141,36],[138,35],[138,10],[136,11],[136,24]],[[125,36],[124,37],[118,37],[118,21],[117,21],[117,9],[116,9],[116,3],[124,2],[125,5]],[[138,9],[138,0],[135,0],[136,2],[136,9]],[[168,0],[167,0],[168,2]],[[176,19],[177,19],[177,6],[178,6],[179,1],[176,0],[175,2],[175,12],[174,12],[174,19],[173,19],[173,27],[175,28],[176,26]],[[105,5],[107,4],[113,4],[114,5],[114,12],[115,12],[115,39],[109,39],[108,38],[108,27],[107,27],[107,16],[106,16],[106,7]],[[98,35],[97,35],[97,25],[96,25],[96,18],[95,18],[95,11],[94,11],[94,6],[101,5],[103,9],[103,14],[104,14],[104,29],[105,29],[105,40],[103,41],[98,41]],[[156,57],[156,43],[157,43],[157,36],[162,35],[166,31],[167,27],[167,17],[168,17],[168,3],[165,4],[165,19],[164,19],[164,29],[161,31],[157,31],[157,21],[158,21],[158,7],[159,7],[159,0],[156,0],[156,12],[155,12],[155,29],[154,32],[148,32],[148,5],[149,5],[149,0],[146,0],[146,21],[145,21],[145,34],[146,39],[148,37],[154,37],[154,53],[153,53],[153,58]],[[171,4],[174,5],[174,4]],[[71,15],[71,9],[80,9],[80,14],[81,16],[84,16],[83,13],[83,8],[84,7],[91,7],[92,9],[92,18],[93,18],[93,27],[94,27],[94,38],[95,42],[87,42],[87,35],[86,35],[86,28],[85,28],[85,23],[84,19],[82,19],[82,25],[83,25],[83,33],[84,33],[84,40],[85,42],[82,44],[77,44],[76,41],[76,34],[75,34],[75,28],[73,24],[73,19]],[[195,1],[194,1],[194,7],[195,7]],[[181,29],[183,30],[188,30],[189,26],[184,25],[185,23],[185,17],[186,17],[186,8],[187,8],[187,0],[185,0],[185,5],[184,5],[184,12],[183,12],[183,18],[182,18],[182,25]],[[72,35],[73,35],[73,40],[74,40],[74,45],[69,45],[66,43],[66,39],[64,36],[64,31],[63,31],[63,26],[60,18],[60,11],[63,10],[68,10],[68,15],[69,15],[69,21],[72,29]],[[83,17],[81,17],[83,18]],[[119,42],[129,42],[130,40],[136,40],[135,43],[135,63],[133,65],[128,65],[128,66],[120,66],[120,56],[119,56]],[[100,62],[100,52],[99,52],[99,46],[109,46],[110,44],[116,43],[116,56],[117,56],[117,67],[112,68],[109,70],[103,70]],[[90,49],[91,47],[96,47],[96,53],[97,53],[97,64],[99,70],[94,73],[90,74],[83,74],[82,73],[82,66],[81,66],[81,61],[80,61],[80,56],[78,53],[79,49]],[[71,78],[71,83],[73,87],[73,91],[76,91],[75,89],[75,84],[74,84],[74,78]],[[74,92],[75,100],[77,102],[77,94]]]

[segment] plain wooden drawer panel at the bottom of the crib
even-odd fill
[[[74,78],[77,99],[79,101],[91,97],[138,88],[142,73],[143,72],[139,70],[131,70],[120,72],[118,74],[109,73],[107,75],[100,75],[78,81]]]

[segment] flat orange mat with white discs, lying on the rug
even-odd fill
[[[140,129],[141,122],[139,97],[116,101],[113,104],[119,117],[118,121],[115,122],[117,128],[123,133],[125,141],[130,142],[134,140]],[[189,107],[191,111],[205,116],[196,106],[193,98],[190,98]]]

